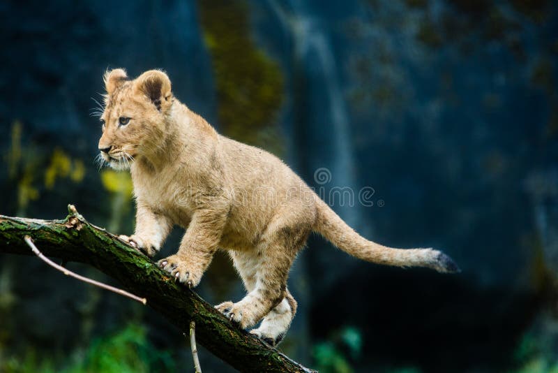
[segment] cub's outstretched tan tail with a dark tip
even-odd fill
[[[318,196],[316,198],[317,219],[313,227],[336,247],[348,254],[383,265],[398,267],[426,267],[443,273],[460,272],[458,265],[449,256],[433,249],[393,249],[366,240],[349,227]]]

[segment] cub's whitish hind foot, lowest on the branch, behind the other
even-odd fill
[[[269,314],[266,314],[257,329],[250,330],[250,332],[259,339],[263,339],[267,344],[277,346],[287,334],[295,314],[296,300],[286,290],[285,298],[271,309]]]

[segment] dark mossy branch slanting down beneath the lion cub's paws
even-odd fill
[[[34,255],[24,237],[33,238],[46,256],[86,263],[147,299],[181,332],[196,325],[200,344],[241,372],[315,372],[232,325],[213,306],[177,284],[163,270],[116,235],[87,222],[73,206],[63,220],[0,215],[0,254]]]

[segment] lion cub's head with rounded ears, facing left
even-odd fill
[[[130,80],[121,68],[107,71],[104,80],[107,94],[100,117],[100,159],[125,170],[138,156],[149,158],[160,150],[172,105],[170,80],[158,70]]]

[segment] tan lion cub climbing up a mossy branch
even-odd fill
[[[456,272],[432,249],[392,249],[361,237],[289,167],[257,147],[220,136],[172,96],[162,71],[135,80],[120,68],[105,73],[100,155],[129,169],[137,213],[135,233],[121,236],[154,256],[172,226],[186,228],[176,254],[158,261],[178,281],[197,286],[218,248],[228,251],[248,294],[216,308],[271,345],[296,312],[289,268],[314,231],[364,261]]]

